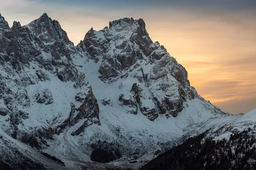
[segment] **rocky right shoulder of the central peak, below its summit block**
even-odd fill
[[[194,99],[198,94],[190,87],[185,68],[170,57],[163,46],[159,46],[150,57],[155,57],[157,53],[162,57],[147,75],[148,86],[157,101],[160,114],[168,113],[176,117],[183,110],[183,102]],[[158,87],[154,86],[159,82]]]

